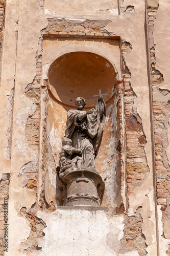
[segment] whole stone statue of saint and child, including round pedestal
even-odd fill
[[[59,158],[60,188],[64,205],[99,206],[104,182],[96,172],[94,159],[98,154],[105,124],[106,104],[100,94],[95,109],[83,111],[86,100],[78,97],[77,110],[69,110],[65,137]]]

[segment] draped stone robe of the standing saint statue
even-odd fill
[[[82,148],[82,167],[95,169],[94,158],[98,153],[105,124],[106,104],[99,100],[92,114],[87,115],[83,121],[85,130],[78,131],[77,120],[80,120],[85,111],[69,110],[65,127],[65,136],[72,140],[72,146]]]

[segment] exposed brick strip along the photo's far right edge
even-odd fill
[[[157,2],[157,1],[155,1]],[[168,92],[159,89],[163,82],[163,75],[157,70],[156,67],[156,56],[153,38],[154,22],[159,5],[154,7],[149,5],[148,1],[148,12],[147,12],[147,24],[148,24],[148,41],[149,41],[149,65],[150,65],[150,77],[151,77],[151,91],[153,88],[157,88],[160,93],[166,95]],[[170,104],[168,101],[160,101],[159,98],[153,96],[152,102],[153,108],[153,130],[154,130],[154,153],[155,153],[155,179],[156,179],[156,196],[157,205],[161,206],[162,211],[162,223],[164,230],[164,223],[170,220],[170,168],[168,159],[166,156],[165,148],[167,147],[167,122],[170,116]],[[165,234],[162,234],[163,238]],[[166,251],[167,255],[170,255],[170,244],[169,249]]]

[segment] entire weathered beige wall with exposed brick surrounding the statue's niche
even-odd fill
[[[168,0],[86,1],[86,8],[72,1],[69,9],[58,2],[6,0],[4,30],[0,1],[1,255],[8,197],[6,255],[170,255]],[[96,159],[109,213],[58,207],[57,160],[71,106],[58,103],[47,75],[74,51],[101,55],[116,71],[101,145],[109,159],[105,150]]]

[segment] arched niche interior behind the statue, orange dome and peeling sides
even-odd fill
[[[53,156],[58,164],[68,110],[75,108],[75,99],[86,99],[86,109],[93,108],[101,89],[107,106],[106,124],[96,169],[105,181],[102,206],[116,211],[116,83],[115,69],[108,59],[92,52],[70,52],[57,58],[48,69],[48,115],[46,132]]]

